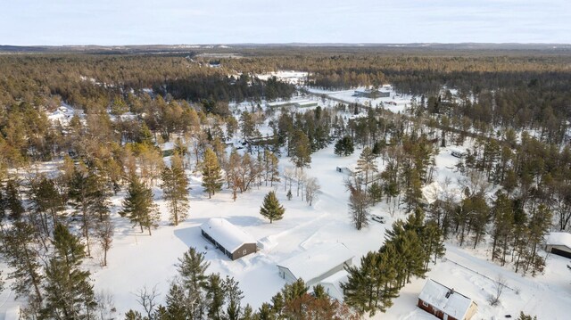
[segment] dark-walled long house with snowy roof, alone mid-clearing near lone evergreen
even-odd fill
[[[244,230],[232,225],[227,219],[212,217],[200,226],[204,238],[236,260],[257,251],[256,240]]]

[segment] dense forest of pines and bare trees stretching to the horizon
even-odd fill
[[[2,276],[28,300],[25,316],[103,314],[105,297],[95,295],[82,259],[99,245],[107,263],[112,195],[127,193],[120,217],[149,235],[158,220],[153,187],[161,188],[172,225],[186,218],[186,169],[202,174],[209,198],[228,189],[236,201],[254,186],[283,182],[289,199],[301,194],[311,205],[319,184],[303,168],[334,143],[338,156],[362,148],[361,174],[346,181],[356,229],[381,201],[390,214],[409,213],[378,251],[361,258],[362,267],[347,269],[344,304],[325,299],[322,288],[310,295],[300,282],[257,311],[241,308],[234,279],[206,275],[203,257],[190,250],[178,265],[183,282],[172,283],[165,306],[128,318],[357,318],[389,308],[410,276],[424,276],[443,255],[443,240],[474,248],[487,242],[492,260],[536,275],[545,263],[543,236],[571,228],[571,54],[242,50],[215,61],[196,52],[0,55],[0,253],[10,267]],[[414,98],[399,114],[358,103],[262,108],[304,92],[258,78],[277,70],[308,72],[303,86],[390,84]],[[78,112],[66,123],[50,121],[47,114],[62,106]],[[271,135],[261,134],[265,123]],[[246,149],[227,152],[235,136]],[[438,148],[468,140],[473,147],[455,168],[465,177],[460,196],[445,185],[426,205],[421,189],[433,182]],[[164,142],[174,145],[168,164]],[[294,169],[280,173],[285,157]],[[55,163],[53,172],[38,169],[46,161]],[[188,278],[187,267],[198,278]],[[202,300],[178,304],[194,298]]]

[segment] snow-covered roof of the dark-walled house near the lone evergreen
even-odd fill
[[[235,251],[244,243],[256,243],[252,235],[221,217],[212,217],[200,228],[226,250]]]

